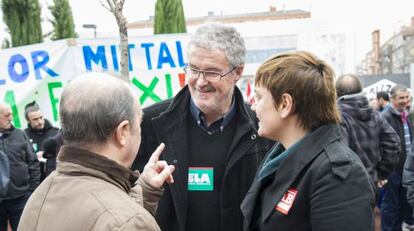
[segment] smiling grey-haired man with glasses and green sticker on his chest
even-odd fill
[[[187,85],[172,99],[144,109],[142,170],[159,142],[175,165],[156,213],[162,230],[242,230],[240,204],[272,142],[257,136],[257,120],[236,83],[246,49],[222,24],[202,25],[188,47]]]

